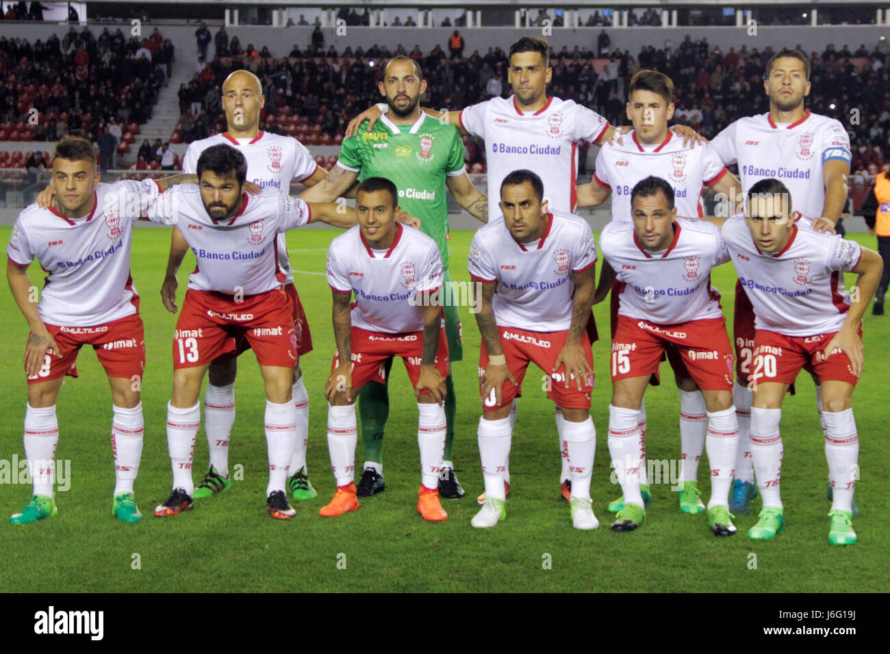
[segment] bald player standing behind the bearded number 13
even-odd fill
[[[262,188],[281,190],[286,195],[290,182],[295,179],[306,186],[323,180],[327,171],[312,159],[309,150],[300,141],[260,130],[260,111],[265,105],[263,86],[249,70],[236,70],[223,82],[223,110],[227,131],[214,134],[201,141],[194,141],[185,152],[182,168],[195,173],[198,157],[214,145],[225,143],[238,148],[247,159],[247,179]],[[312,351],[312,335],[303,311],[303,304],[294,286],[294,273],[287,256],[287,236],[278,235],[278,262],[285,276],[284,289],[293,301],[296,345],[300,356]],[[176,312],[176,272],[182,264],[188,244],[182,232],[174,227],[167,261],[166,278],[161,287],[161,298],[167,311]],[[250,348],[247,338],[239,341],[239,347],[223,354],[210,364],[207,390],[204,396],[204,428],[210,453],[210,469],[204,480],[195,488],[194,497],[211,497],[229,488],[229,442],[231,426],[235,422],[235,375],[238,372],[238,355]],[[296,447],[289,470],[287,487],[296,499],[311,499],[315,488],[306,470],[306,445],[309,432],[309,395],[303,384],[303,371],[295,368],[292,387],[296,407]]]

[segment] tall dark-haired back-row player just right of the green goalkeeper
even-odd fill
[[[573,213],[578,205],[576,183],[578,176],[578,144],[587,141],[603,145],[620,131],[609,125],[604,117],[575,101],[561,100],[547,95],[553,69],[550,67],[550,45],[546,39],[522,36],[510,46],[510,67],[507,79],[514,94],[509,98],[492,98],[459,111],[446,111],[442,117],[460,128],[461,133],[479,136],[486,141],[488,162],[489,214],[498,215],[500,184],[506,175],[517,168],[527,168],[544,182],[544,195],[551,210]],[[380,117],[380,105],[354,118],[346,133],[359,133],[360,123],[369,120],[368,129]],[[423,109],[434,117],[441,112]],[[699,138],[691,128],[676,126],[676,132],[687,138]],[[595,327],[591,319],[591,338]],[[453,352],[452,352],[453,355]],[[452,359],[454,357],[452,356]],[[511,419],[515,421],[515,407]],[[555,409],[557,432],[562,434],[562,415]],[[571,495],[569,463],[565,444],[560,436],[562,457],[560,492],[568,501]],[[509,466],[508,466],[509,467]],[[509,482],[509,469],[505,475]],[[480,504],[484,497],[477,500]]]

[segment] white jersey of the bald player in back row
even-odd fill
[[[231,145],[238,148],[247,160],[247,181],[261,188],[278,189],[290,194],[290,182],[303,182],[318,170],[309,150],[291,136],[260,132],[253,139],[236,139],[228,132],[214,134],[200,141],[193,141],[182,159],[182,172],[196,174],[201,152],[214,145]],[[287,237],[279,235],[279,266],[285,273],[285,282],[293,283],[294,274],[287,258]]]

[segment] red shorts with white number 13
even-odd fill
[[[296,367],[293,308],[284,289],[247,295],[233,302],[231,295],[198,291],[185,294],[176,320],[173,367],[203,366],[238,350],[245,339],[261,366]]]

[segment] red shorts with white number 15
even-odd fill
[[[656,373],[665,351],[674,371],[691,376],[701,390],[732,390],[732,345],[724,318],[657,325],[619,316],[612,339],[612,382]]]

